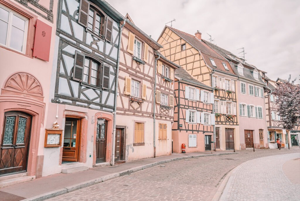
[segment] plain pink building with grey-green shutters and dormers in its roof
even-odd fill
[[[217,45],[203,40],[208,46],[226,58],[232,70],[238,75],[236,93],[238,94],[238,113],[241,149],[268,148],[267,127],[265,123],[264,87],[265,82],[253,65]]]

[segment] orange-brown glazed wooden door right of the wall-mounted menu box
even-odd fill
[[[79,161],[80,128],[81,119],[66,117],[62,161]]]

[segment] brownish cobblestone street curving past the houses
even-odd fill
[[[290,153],[298,153],[298,157],[300,157],[300,150],[297,148],[290,150],[256,149],[255,152],[253,150],[237,152],[238,154],[234,155],[208,156],[170,162],[165,164],[165,167],[155,166],[48,200],[211,200],[230,170],[246,161]],[[278,158],[289,160],[287,156]],[[271,159],[271,161],[275,161],[277,156]],[[263,160],[249,161],[247,166],[251,170],[251,165],[256,167]],[[273,167],[273,164],[275,163],[269,163],[265,167],[263,165],[261,167],[259,164],[259,168],[272,171],[279,168]],[[274,182],[274,177],[277,175],[272,171],[264,171],[270,173],[266,174],[269,179],[259,180],[260,183],[268,185],[269,182]],[[251,177],[253,174],[253,172],[249,172],[246,176]],[[241,182],[243,180],[245,179],[241,179]],[[270,195],[268,200],[273,200],[273,195],[277,190],[276,183],[274,185],[272,192],[265,192]],[[299,193],[299,186],[297,187],[297,193]],[[286,199],[291,200],[289,197]],[[230,200],[235,200],[235,198],[230,198]]]

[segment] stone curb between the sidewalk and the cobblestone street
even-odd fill
[[[101,182],[105,182],[105,181],[108,181],[110,179],[115,179],[115,178],[120,177],[120,176],[130,175],[131,173],[134,173],[134,172],[137,172],[137,171],[140,171],[140,170],[145,170],[149,167],[153,167],[153,166],[156,166],[156,165],[169,163],[169,162],[172,162],[172,161],[178,161],[178,160],[187,159],[187,158],[199,158],[199,157],[204,157],[204,156],[218,156],[218,155],[227,155],[227,154],[237,154],[237,152],[218,153],[218,154],[201,154],[201,155],[195,155],[195,156],[183,156],[183,157],[167,159],[167,160],[164,160],[164,161],[157,161],[157,162],[153,162],[153,163],[150,163],[150,164],[130,168],[128,170],[123,170],[123,171],[118,172],[118,173],[112,173],[112,174],[109,174],[109,175],[105,175],[105,176],[102,176],[102,177],[91,179],[89,181],[74,184],[72,186],[68,186],[68,187],[65,187],[65,188],[54,190],[54,191],[51,191],[51,192],[48,192],[48,193],[44,193],[44,194],[41,194],[41,195],[30,197],[30,198],[27,198],[27,199],[22,199],[22,201],[42,201],[42,200],[46,200],[46,199],[49,199],[49,198],[52,198],[52,197],[56,197],[56,196],[59,196],[59,195],[65,194],[65,193],[72,192],[74,190],[79,190],[81,188],[85,188],[85,187],[88,187],[88,186],[91,186],[91,185],[99,184]]]

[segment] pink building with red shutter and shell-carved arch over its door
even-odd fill
[[[0,186],[42,176],[57,1],[0,0]],[[1,199],[1,198],[0,198]]]

